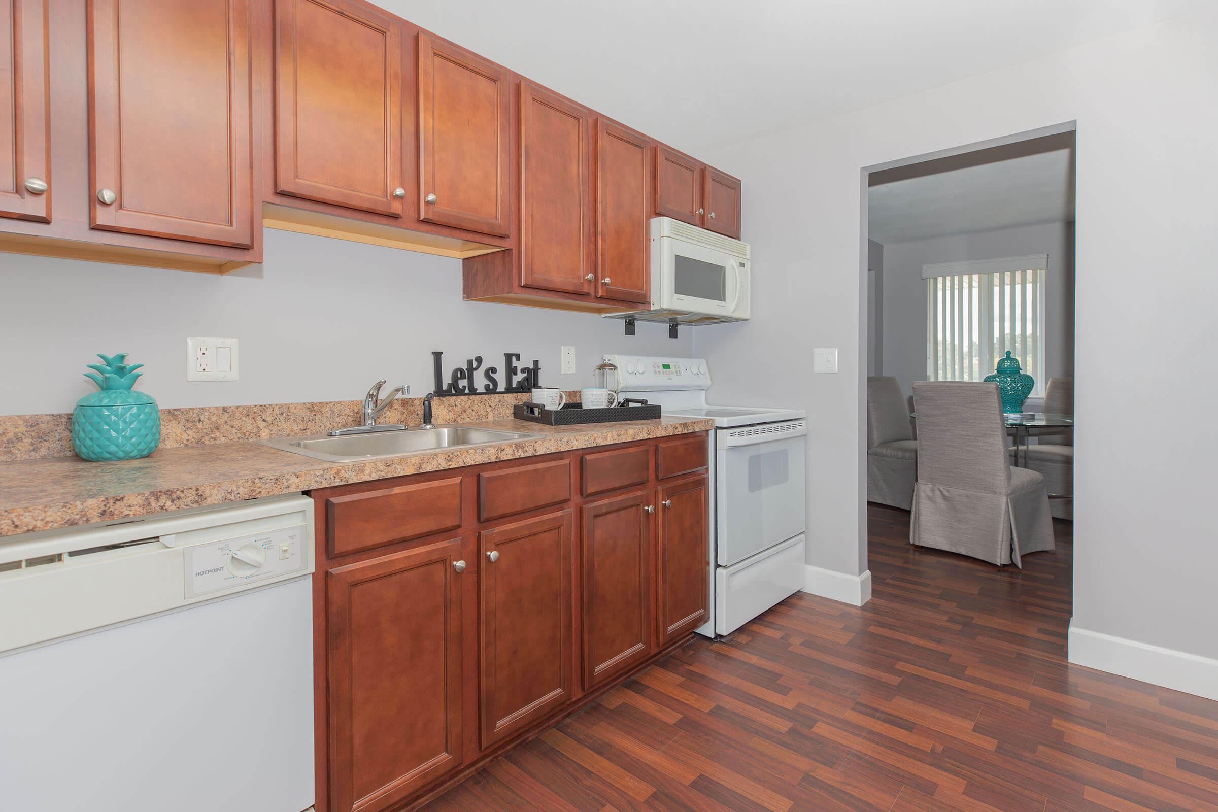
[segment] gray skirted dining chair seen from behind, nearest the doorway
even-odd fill
[[[910,543],[999,566],[1054,549],[1045,481],[1012,467],[998,383],[914,383],[917,483]]]

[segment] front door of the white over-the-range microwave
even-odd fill
[[[658,307],[687,313],[732,317],[741,304],[743,261],[730,253],[674,237],[660,237],[661,269]]]

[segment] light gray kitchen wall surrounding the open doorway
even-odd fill
[[[1218,177],[1203,135],[1218,106],[1197,101],[1218,86],[1216,39],[1218,5],[1197,4],[705,156],[744,179],[754,320],[708,329],[695,348],[732,370],[721,402],[808,410],[809,564],[866,570],[864,168],[1077,122],[1073,625],[1218,657],[1218,379],[1199,371],[1218,352],[1218,211],[1199,181]],[[814,347],[839,347],[837,375],[799,365]],[[1113,442],[1140,424],[1153,442]]]

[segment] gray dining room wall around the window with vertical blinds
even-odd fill
[[[922,279],[922,265],[1035,253],[1049,254],[1049,274],[1045,278],[1045,369],[1050,377],[1073,376],[1073,223],[1024,225],[885,245],[883,374],[894,375],[906,394],[912,392],[914,381],[926,380],[926,280]]]

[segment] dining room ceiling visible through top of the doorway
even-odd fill
[[[1074,219],[1074,133],[873,172],[867,236],[889,245]]]

